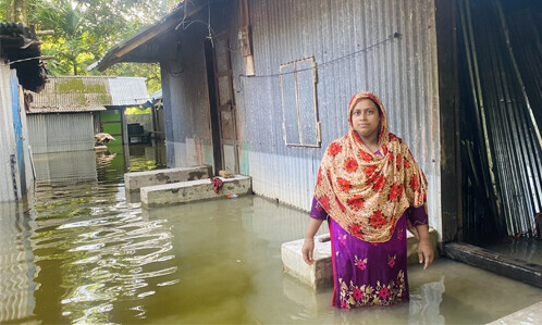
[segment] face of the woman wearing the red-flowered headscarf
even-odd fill
[[[378,141],[380,114],[377,104],[368,98],[358,100],[352,110],[352,125],[361,140]]]

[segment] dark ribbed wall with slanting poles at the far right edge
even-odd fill
[[[540,11],[528,3],[457,1],[463,228],[470,242],[539,230],[542,141],[534,117],[542,103],[535,55],[541,24]]]

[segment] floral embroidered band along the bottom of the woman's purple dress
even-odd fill
[[[405,273],[401,270],[395,280],[389,284],[377,282],[377,286],[362,285],[355,286],[350,280],[349,285],[343,278],[338,279],[341,308],[350,309],[362,305],[390,305],[407,298],[405,286]]]

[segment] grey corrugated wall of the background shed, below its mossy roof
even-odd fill
[[[27,115],[34,153],[94,149],[91,113]]]

